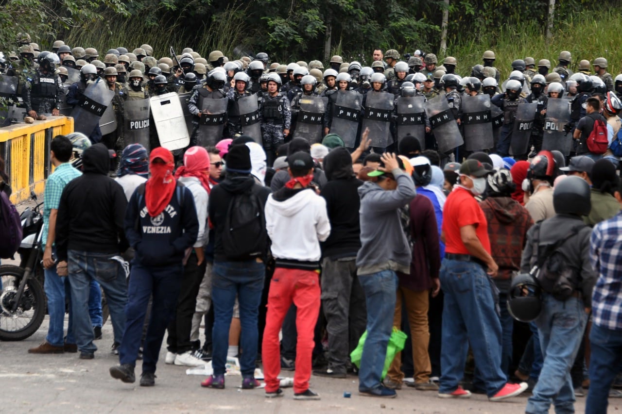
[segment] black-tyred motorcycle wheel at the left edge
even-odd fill
[[[0,340],[21,341],[34,334],[45,317],[45,293],[35,278],[29,278],[15,312],[12,303],[24,277],[24,269],[0,266]]]

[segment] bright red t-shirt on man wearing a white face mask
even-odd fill
[[[481,245],[490,254],[488,222],[484,211],[473,197],[471,191],[456,187],[445,201],[443,208],[443,232],[445,233],[445,253],[469,254],[460,237],[460,228],[472,224]]]

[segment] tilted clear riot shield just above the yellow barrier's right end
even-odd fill
[[[108,89],[104,80],[98,80],[86,87],[84,95],[71,113],[73,117],[73,129],[82,132],[87,137],[100,123],[100,118],[111,106],[114,92]]]

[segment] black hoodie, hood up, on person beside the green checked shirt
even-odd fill
[[[128,201],[123,187],[108,177],[110,155],[95,144],[82,156],[82,172],[63,189],[56,221],[58,260],[67,251],[118,254],[128,248],[123,218]]]

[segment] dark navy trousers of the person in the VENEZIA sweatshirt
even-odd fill
[[[149,298],[153,296],[149,326],[142,351],[142,372],[156,372],[157,359],[166,327],[175,318],[177,297],[182,283],[183,266],[146,267],[136,259],[129,275],[127,321],[119,341],[119,363],[136,366],[141,346]],[[108,293],[106,293],[108,295]]]

